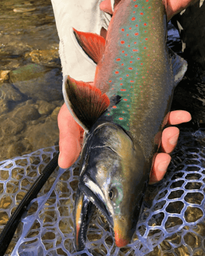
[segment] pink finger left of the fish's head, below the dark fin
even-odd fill
[[[76,161],[80,154],[80,126],[76,123],[64,103],[58,114],[60,155],[58,164],[65,169]]]

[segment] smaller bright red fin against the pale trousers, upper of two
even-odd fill
[[[102,38],[99,34],[76,31],[75,28],[73,28],[73,33],[80,46],[83,48],[83,51],[98,64],[105,51],[105,38]]]

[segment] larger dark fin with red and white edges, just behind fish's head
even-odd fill
[[[63,82],[63,96],[76,122],[85,130],[90,130],[109,107],[109,97],[101,90],[69,76]]]

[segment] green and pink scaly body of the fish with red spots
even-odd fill
[[[161,106],[173,91],[171,62],[165,50],[166,28],[158,26],[166,18],[164,5],[161,1],[151,0],[124,1],[120,4],[125,5],[127,11],[123,13],[122,7],[122,11],[116,8],[116,16],[121,17],[118,36],[111,25],[108,31],[110,39],[98,64],[100,74],[96,75],[96,87],[109,97],[121,97],[120,102],[105,113],[106,118],[132,133],[146,148],[145,151],[151,153],[153,149],[146,146],[140,135],[150,133],[155,138],[158,130],[155,123],[158,120],[155,120],[153,113],[158,111],[158,119],[162,123],[164,110]],[[163,95],[164,84],[168,86]],[[155,106],[156,98],[161,100],[158,106]]]

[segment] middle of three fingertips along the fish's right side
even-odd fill
[[[180,130],[174,126],[164,129],[161,136],[161,151],[171,153],[175,146],[177,146],[179,133]]]

